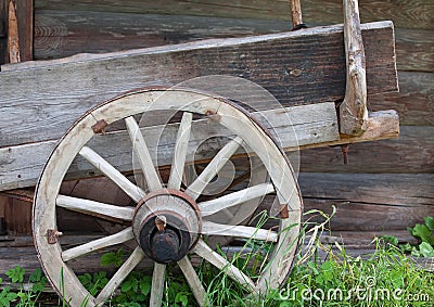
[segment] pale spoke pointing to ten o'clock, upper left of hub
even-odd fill
[[[127,195],[130,196],[136,203],[143,199],[145,193],[139,187],[129,181],[124,175],[120,174],[120,171],[114,168],[108,162],[106,162],[90,148],[84,146],[79,154],[97,169],[101,170],[105,176],[107,176],[120,189],[123,189],[124,192],[127,193]]]

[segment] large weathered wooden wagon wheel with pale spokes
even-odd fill
[[[162,93],[164,93],[163,98]],[[132,115],[154,110],[183,112],[176,140],[169,180],[162,182],[151,159],[149,149]],[[181,187],[192,115],[212,114],[214,120],[228,128],[235,137],[229,141],[208,166],[186,190]],[[125,120],[132,148],[136,151],[150,191],[143,191],[129,181],[101,155],[90,149],[89,140],[99,132],[99,126]],[[110,145],[110,144],[107,144]],[[113,144],[116,145],[116,144]],[[206,184],[240,145],[245,145],[266,166],[271,183],[261,183],[228,195],[197,202]],[[65,174],[76,156],[81,156],[113,180],[137,204],[122,207],[94,201],[61,195]],[[281,205],[279,230],[256,229],[247,226],[228,226],[209,222],[206,217],[220,209],[235,206],[252,197],[276,193]],[[130,227],[118,233],[62,250],[56,240],[56,207],[127,220]],[[279,287],[286,279],[296,251],[302,213],[302,199],[291,165],[272,138],[233,103],[221,98],[187,89],[142,89],[107,101],[88,112],[60,140],[39,179],[33,212],[35,245],[52,286],[72,306],[103,305],[130,271],[144,258],[154,260],[150,306],[159,306],[163,299],[165,268],[177,263],[199,303],[206,304],[206,292],[189,255],[195,254],[210,263],[252,293],[265,293]],[[206,235],[253,238],[273,243],[273,251],[260,276],[253,280],[225,257],[213,251]],[[137,247],[119,267],[105,287],[92,296],[80,283],[68,265],[71,259],[93,251],[136,240]],[[167,253],[167,251],[175,251]]]

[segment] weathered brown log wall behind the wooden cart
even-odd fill
[[[289,2],[35,0],[34,59],[289,30]],[[340,1],[302,0],[302,10],[308,26],[343,22]],[[369,103],[372,111],[397,110],[401,135],[352,145],[348,165],[342,164],[340,148],[302,152],[306,209],[336,205],[334,229],[405,230],[434,215],[433,11],[429,0],[360,3],[363,23],[395,24],[400,91],[372,97]]]

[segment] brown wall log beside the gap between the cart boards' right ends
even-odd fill
[[[398,72],[399,92],[372,95],[373,111],[393,108],[400,125],[434,126],[434,73]]]

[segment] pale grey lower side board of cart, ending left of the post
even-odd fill
[[[321,143],[339,139],[334,103],[291,107],[289,116],[292,123],[290,124],[288,123],[288,114],[279,110],[263,112],[261,116],[270,120],[269,125],[273,127],[275,132],[280,136],[282,144],[286,146],[294,146],[294,140],[297,140],[299,145],[307,145],[312,142]],[[291,127],[294,127],[294,129]],[[173,159],[178,125],[165,126],[165,133],[170,141],[167,144],[161,144],[161,148],[157,149],[156,141],[159,139],[162,129],[162,126],[149,127],[142,129],[142,133],[151,149],[150,152],[157,152],[159,165],[165,165],[170,164]],[[188,157],[191,157],[191,154],[203,140],[216,133],[228,135],[228,131],[222,129],[222,126],[207,119],[194,120]],[[110,138],[107,143],[117,145],[107,148],[104,144],[107,138]],[[55,141],[46,141],[0,149],[0,190],[35,186],[54,145]],[[102,154],[117,169],[122,171],[131,169],[132,150],[127,131],[97,137],[90,146]],[[220,146],[220,142],[209,143],[208,146],[207,151],[201,151],[203,156],[196,154],[195,158],[212,157],[215,150]],[[155,163],[155,156],[153,156],[153,159]],[[94,175],[94,168],[84,159],[76,159],[69,171],[69,178]]]

